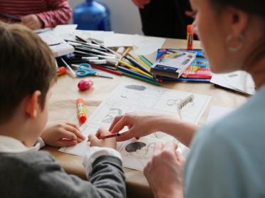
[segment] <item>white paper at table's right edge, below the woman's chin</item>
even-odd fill
[[[255,93],[255,83],[249,73],[245,71],[235,71],[232,73],[213,74],[210,81],[224,88],[237,90],[242,93],[253,95]]]

